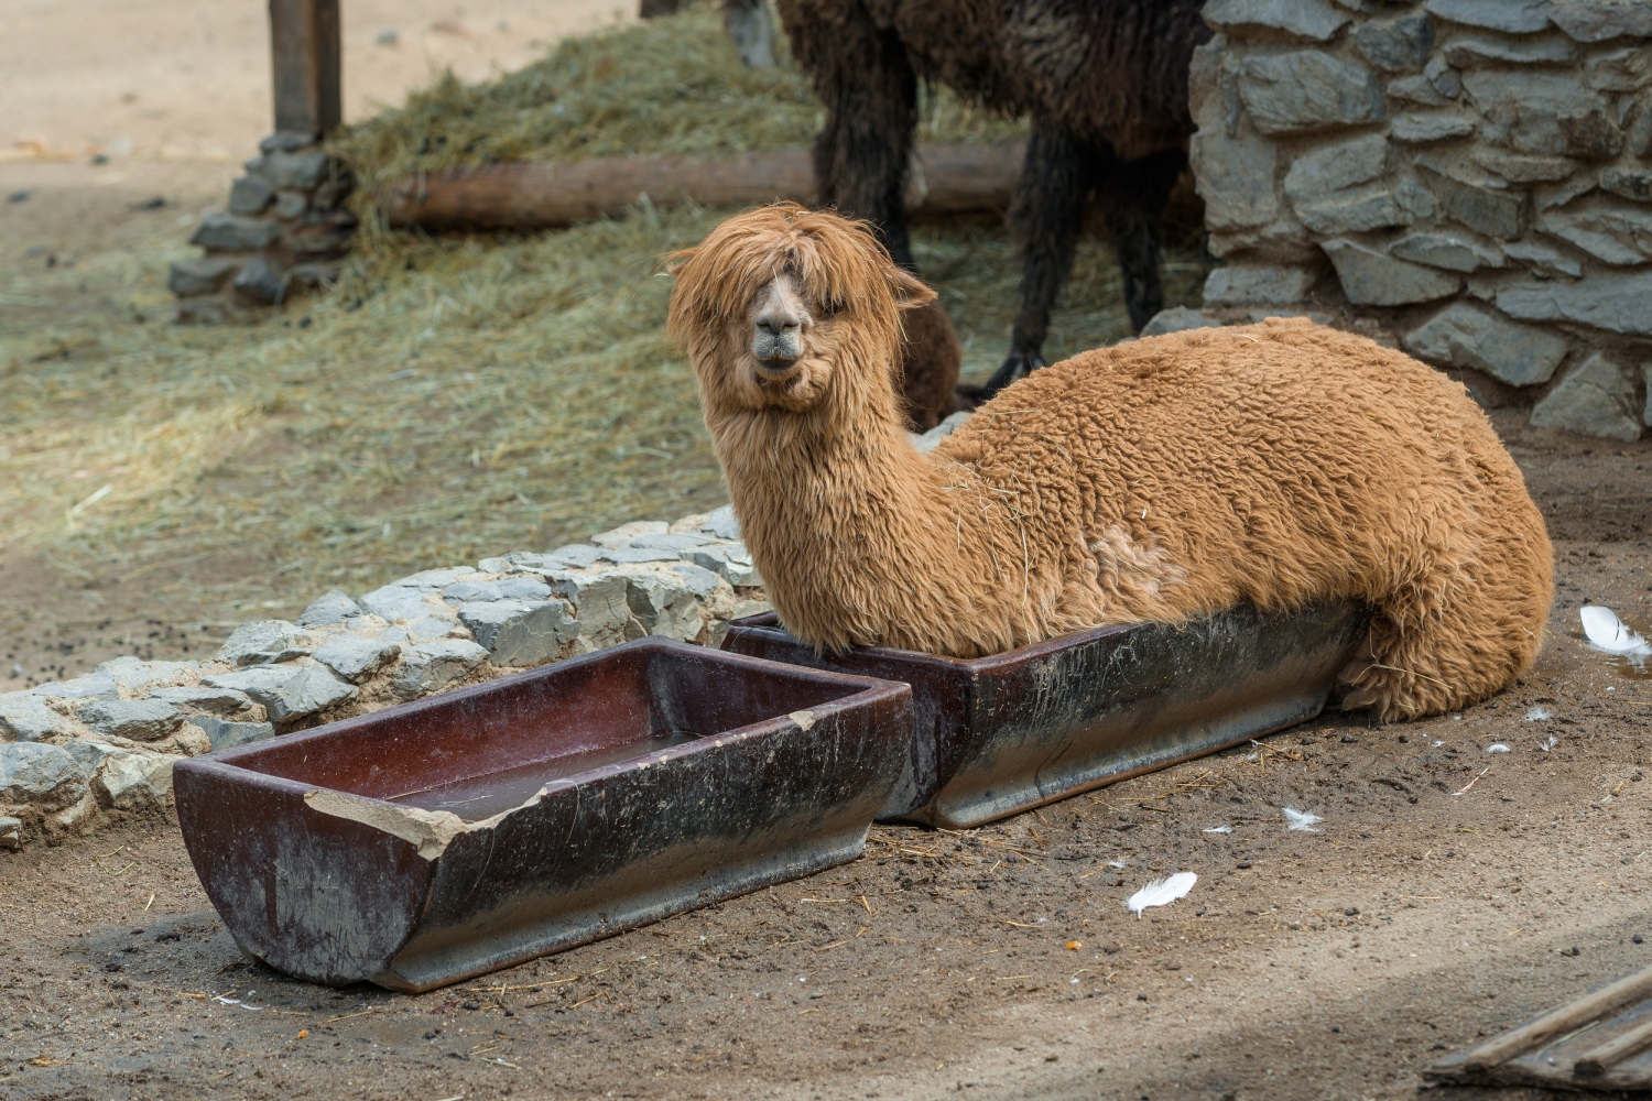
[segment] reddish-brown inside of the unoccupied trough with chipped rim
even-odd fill
[[[615,662],[524,673],[479,690],[276,740],[236,754],[253,773],[479,822],[552,781],[624,768],[715,733],[816,708],[843,685],[753,677],[697,652],[628,650]]]

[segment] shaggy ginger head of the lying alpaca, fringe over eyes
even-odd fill
[[[709,414],[895,408],[900,310],[935,294],[866,224],[776,203],[676,259],[669,328]]]

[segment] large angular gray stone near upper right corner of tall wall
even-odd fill
[[[1622,152],[1622,132],[1604,101],[1576,76],[1485,69],[1464,76],[1485,119],[1482,135],[1521,154],[1596,160]]]

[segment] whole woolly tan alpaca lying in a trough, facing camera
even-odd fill
[[[677,269],[747,545],[821,649],[975,657],[1241,602],[1373,609],[1345,706],[1416,718],[1508,687],[1538,650],[1551,551],[1457,383],[1303,320],[1074,357],[930,454],[894,386],[932,292],[864,226],[781,205]]]

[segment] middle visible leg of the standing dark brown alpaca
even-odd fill
[[[1009,337],[1009,358],[981,388],[983,401],[1044,366],[1049,314],[1072,272],[1095,163],[1097,155],[1085,142],[1047,119],[1034,119],[1021,180],[1009,203],[1009,226],[1023,258],[1021,310]]]

